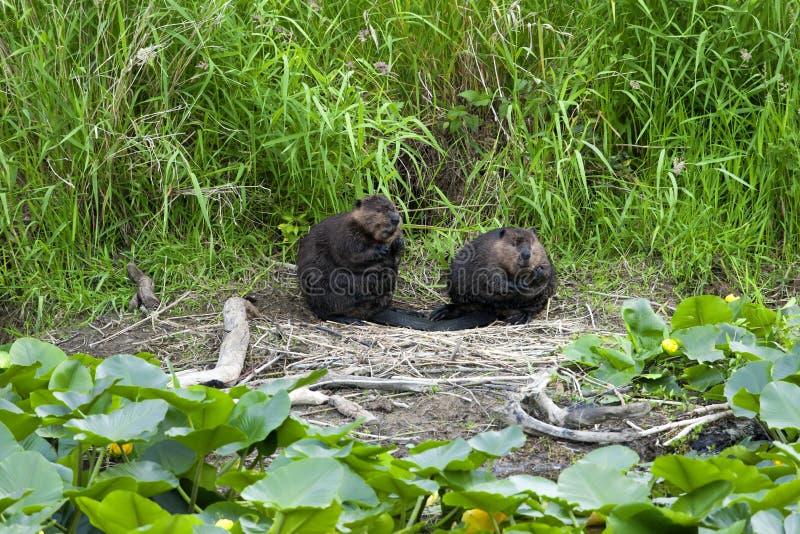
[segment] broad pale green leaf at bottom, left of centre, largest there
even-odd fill
[[[277,510],[324,509],[336,500],[343,477],[338,461],[306,458],[270,472],[245,488],[242,498]]]

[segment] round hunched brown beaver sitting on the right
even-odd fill
[[[556,287],[550,257],[536,233],[499,228],[467,243],[450,265],[447,292],[451,304],[431,319],[487,312],[511,323],[526,323],[547,304]]]

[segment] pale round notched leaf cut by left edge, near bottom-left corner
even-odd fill
[[[6,509],[6,516],[59,506],[63,491],[58,468],[38,452],[15,452],[0,459],[0,495],[24,495]]]

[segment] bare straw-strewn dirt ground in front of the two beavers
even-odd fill
[[[270,378],[300,375],[318,368],[335,375],[437,379],[439,385],[425,393],[336,390],[377,417],[376,424],[359,428],[356,436],[396,445],[401,455],[408,447],[429,439],[468,439],[479,432],[505,427],[503,413],[508,399],[540,368],[552,370],[555,380],[548,386],[548,393],[560,405],[580,400],[590,389],[606,389],[602,384],[587,382],[585,375],[564,359],[560,349],[584,333],[624,332],[619,307],[628,296],[587,295],[569,283],[562,283],[549,308],[537,319],[521,326],[496,324],[461,332],[417,332],[377,325],[322,323],[297,294],[291,267],[275,264],[269,285],[248,295],[262,316],[250,321],[250,346],[239,383],[255,386]],[[419,287],[401,282],[397,292],[400,306],[429,310],[441,299],[435,293],[416,293],[412,285]],[[650,298],[654,298],[652,294]],[[162,361],[169,359],[176,370],[211,368],[224,334],[222,306],[234,295],[235,292],[161,295],[162,311],[150,317],[138,311],[103,317],[79,329],[53,332],[44,339],[68,354],[85,352],[102,357],[150,352]],[[655,305],[668,308],[674,303]],[[167,306],[171,307],[164,309]],[[483,380],[470,385],[464,383],[465,378]],[[328,391],[325,386],[321,390]],[[680,419],[693,408],[677,401],[653,399],[651,403],[652,410],[646,416],[587,430],[649,428]],[[295,413],[319,425],[350,421],[327,405],[301,406]],[[677,448],[662,445],[674,432],[626,445],[647,461],[661,454],[685,452],[692,443],[724,447],[753,431],[728,418],[708,425],[700,441],[695,441],[695,432]],[[527,473],[555,478],[597,446],[529,436],[524,447],[497,460],[492,469],[499,476]]]

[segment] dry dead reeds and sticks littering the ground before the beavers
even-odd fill
[[[527,325],[497,323],[460,332],[419,332],[372,324],[322,323],[297,295],[291,266],[277,264],[273,275],[268,286],[248,295],[260,316],[248,323],[249,344],[240,374],[225,381],[228,385],[255,387],[277,377],[327,369],[328,375],[312,386],[323,394],[320,402],[325,404],[295,407],[298,415],[317,424],[342,424],[361,415],[370,422],[357,432],[361,439],[404,446],[434,438],[469,437],[509,422],[526,427],[520,415],[524,404],[520,404],[521,397],[526,387],[537,377],[541,382],[542,376],[546,379],[540,392],[546,386],[545,398],[551,405],[540,408],[549,407],[553,413],[562,410],[564,415],[585,409],[584,395],[592,396],[592,401],[617,398],[623,405],[636,400],[626,391],[593,384],[561,354],[560,348],[579,334],[619,331],[614,324],[604,328],[600,320],[605,315],[586,301],[556,296],[548,309]],[[414,295],[403,293],[402,287],[400,292],[405,295],[400,300],[406,305],[414,299]],[[179,374],[182,370],[213,369],[227,330],[223,328],[222,308],[229,296],[217,295],[208,301],[207,309],[194,313],[185,313],[179,305],[186,308],[188,303],[200,301],[200,295],[162,296],[166,304],[144,318],[136,314],[106,317],[73,332],[54,333],[49,341],[67,353],[107,356],[150,352],[162,361],[169,360]],[[621,302],[622,295],[608,298],[617,297]],[[427,306],[423,302],[419,307]],[[204,380],[209,378],[207,371],[201,374]],[[685,437],[699,424],[719,421],[724,412],[720,409],[713,414],[684,416],[692,407],[681,402],[645,404],[654,409],[647,413],[638,404],[638,411],[623,410],[618,417],[588,422],[578,419],[580,428],[567,434],[528,426],[532,434],[549,433],[552,437],[531,437],[524,448],[499,461],[497,469],[504,473],[553,474],[569,465],[576,454],[609,441],[576,440],[575,432],[595,433],[595,437],[611,433],[619,438],[613,441],[628,443],[644,458],[664,454],[673,450],[662,446],[666,440],[676,435]],[[529,405],[525,408],[522,413],[527,417],[541,411]],[[695,419],[671,423],[690,417]],[[567,430],[557,421],[546,424]],[[576,425],[573,421],[565,426]],[[660,426],[660,430],[654,430]],[[686,428],[689,430],[680,434]]]

